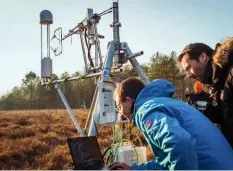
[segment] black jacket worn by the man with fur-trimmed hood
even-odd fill
[[[222,132],[233,148],[233,56],[229,59],[222,68],[210,61],[204,77],[205,83],[213,88],[212,94],[221,109]]]

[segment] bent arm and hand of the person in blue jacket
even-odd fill
[[[147,124],[149,122],[153,124],[150,126]],[[198,169],[196,141],[180,126],[177,119],[163,113],[150,112],[142,118],[141,124],[145,128],[144,133],[147,138],[152,141],[151,144],[154,144],[155,148],[160,148],[162,152],[155,154],[156,160],[143,164],[134,164],[131,166],[131,170]],[[152,150],[155,153],[158,151],[156,149]]]

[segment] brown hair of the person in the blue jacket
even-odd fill
[[[145,84],[138,78],[128,78],[122,81],[114,91],[114,98],[118,96],[121,101],[125,101],[126,97],[130,97],[132,99],[137,98],[138,94],[145,87]]]

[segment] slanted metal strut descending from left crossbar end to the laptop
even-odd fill
[[[64,105],[66,106],[66,109],[67,109],[68,113],[70,114],[70,117],[73,120],[74,125],[75,125],[76,129],[78,130],[80,136],[84,137],[82,129],[80,128],[80,126],[79,126],[79,124],[78,124],[78,122],[77,122],[77,120],[76,120],[76,118],[75,118],[75,116],[74,116],[74,114],[73,114],[73,112],[72,112],[72,110],[71,110],[71,108],[70,108],[64,94],[62,93],[61,87],[59,86],[59,84],[55,84],[55,88],[57,89],[58,94],[60,95]]]

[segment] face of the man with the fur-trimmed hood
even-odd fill
[[[185,54],[182,57],[181,65],[184,71],[186,72],[188,78],[196,79],[200,82],[203,82],[203,77],[205,73],[205,68],[207,66],[209,58],[205,53],[202,53],[199,56],[199,60],[193,60],[189,58],[188,54]]]

